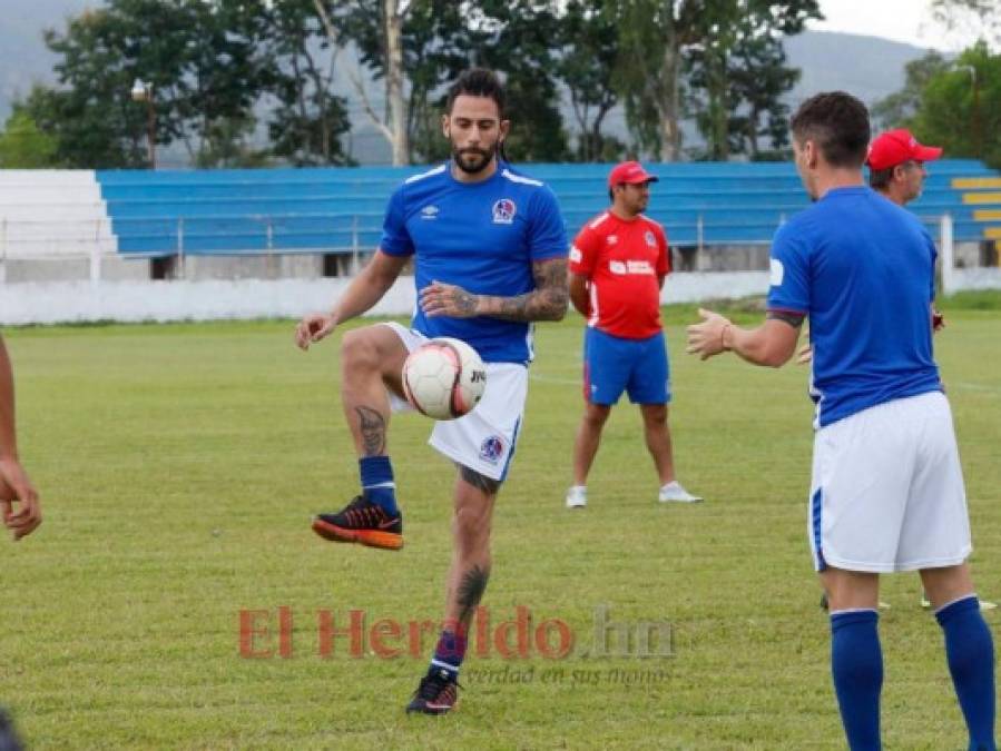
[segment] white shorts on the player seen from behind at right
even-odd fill
[[[807,534],[817,571],[887,573],[966,560],[966,493],[944,394],[886,402],[817,431]]]

